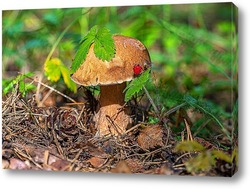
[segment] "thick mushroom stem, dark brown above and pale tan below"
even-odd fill
[[[95,116],[97,136],[119,135],[131,123],[129,111],[124,107],[126,83],[100,86],[100,106]]]

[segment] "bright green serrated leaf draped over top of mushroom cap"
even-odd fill
[[[107,28],[93,26],[80,43],[71,66],[71,73],[74,73],[85,61],[92,43],[95,43],[94,53],[96,57],[102,61],[110,61],[114,57],[115,44],[110,31]]]

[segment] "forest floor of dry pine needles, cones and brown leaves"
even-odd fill
[[[95,137],[89,100],[39,107],[34,97],[9,94],[2,102],[2,167],[198,176],[232,176],[237,169],[217,161],[209,171],[187,171],[185,162],[197,153],[177,152],[175,134],[162,123],[139,122],[121,136]],[[192,140],[217,148],[201,138]]]

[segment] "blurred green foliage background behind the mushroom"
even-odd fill
[[[44,74],[48,57],[59,58],[70,68],[81,38],[99,25],[114,34],[137,38],[148,48],[153,67],[147,89],[160,110],[190,100],[184,98],[189,95],[206,110],[212,109],[223,126],[234,124],[238,33],[237,9],[231,3],[9,10],[2,14],[3,89],[19,72]],[[44,82],[70,94],[62,79]],[[197,118],[194,129],[202,124],[204,120]]]

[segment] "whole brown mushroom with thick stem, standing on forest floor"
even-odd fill
[[[129,110],[124,106],[126,81],[151,66],[149,53],[139,40],[122,35],[114,35],[113,39],[116,52],[111,61],[98,59],[92,44],[85,61],[71,75],[79,85],[100,85],[99,106],[94,115],[96,136],[100,137],[124,134],[131,125]]]

